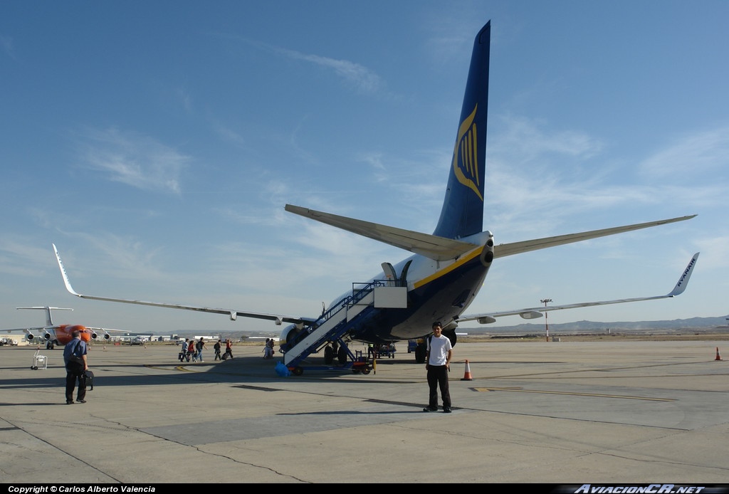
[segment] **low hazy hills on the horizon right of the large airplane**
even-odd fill
[[[594,332],[636,332],[636,331],[676,331],[680,329],[701,329],[703,331],[716,329],[717,331],[729,332],[729,315],[722,315],[714,318],[690,318],[674,319],[673,321],[619,321],[612,323],[601,323],[595,321],[577,321],[574,323],[549,324],[550,334],[553,333],[594,333]],[[539,323],[524,323],[515,326],[459,326],[459,332],[469,334],[499,334],[499,333],[544,333],[545,320],[539,319]]]

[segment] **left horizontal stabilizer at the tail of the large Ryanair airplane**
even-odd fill
[[[455,259],[477,248],[472,243],[453,240],[452,238],[437,237],[427,233],[404,230],[402,228],[388,227],[384,224],[371,223],[360,219],[347,218],[331,213],[322,213],[313,209],[286,204],[286,211],[295,213],[306,218],[315,219],[321,223],[329,224],[332,227],[347,230],[348,232],[372,238],[391,246],[403,248],[413,254],[420,254],[435,261]]]

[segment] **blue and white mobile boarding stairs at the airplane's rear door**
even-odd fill
[[[355,318],[362,317],[375,308],[406,307],[407,287],[391,284],[391,281],[383,280],[352,283],[352,293],[322,314],[311,326],[305,327],[292,348],[286,350],[286,367],[290,369],[300,366],[305,358],[312,353],[318,353],[328,342],[338,341],[351,328],[351,322]]]

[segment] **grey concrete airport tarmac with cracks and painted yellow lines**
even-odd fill
[[[95,387],[72,405],[61,350],[33,370],[35,348],[2,347],[0,482],[722,484],[722,345],[459,343],[451,414],[422,411],[426,372],[405,342],[370,375],[298,377],[259,346],[181,364],[174,345],[96,344]]]

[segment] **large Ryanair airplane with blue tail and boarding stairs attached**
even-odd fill
[[[346,291],[329,307],[325,307],[321,315],[307,318],[78,294],[71,288],[61,257],[53,246],[66,289],[77,297],[87,299],[219,313],[229,315],[233,320],[241,316],[268,319],[276,324],[287,323],[289,326],[281,334],[281,352],[284,353],[284,364],[292,369],[300,369],[299,365],[306,356],[318,352],[329,342],[340,343],[344,351],[348,352],[346,342],[351,340],[383,344],[415,339],[429,334],[433,321],[440,321],[443,324],[443,334],[455,343],[459,321],[479,321],[485,324],[505,315],[535,318],[548,310],[660,299],[682,293],[698,254],[690,260],[675,288],[666,295],[464,315],[496,259],[693,218],[681,216],[496,245],[494,235],[483,230],[490,39],[491,23],[487,23],[478,32],[473,45],[443,209],[432,235],[286,205],[286,211],[291,213],[413,253],[397,264],[383,262],[381,273],[367,283]],[[351,353],[348,356],[354,360]]]

